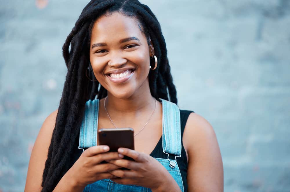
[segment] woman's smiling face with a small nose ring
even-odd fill
[[[149,87],[152,45],[135,19],[114,12],[94,23],[90,40],[90,62],[99,83],[118,98],[142,94]],[[154,53],[153,53],[154,54]]]

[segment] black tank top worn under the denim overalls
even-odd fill
[[[187,191],[187,167],[188,167],[188,162],[187,162],[187,158],[186,158],[186,153],[185,153],[185,149],[183,146],[183,142],[182,142],[182,136],[183,136],[183,132],[184,132],[184,128],[185,128],[185,124],[186,121],[189,117],[189,114],[193,112],[193,111],[189,111],[189,110],[180,110],[180,129],[181,129],[181,157],[177,157],[177,165],[180,169],[180,174],[182,177],[182,182],[183,182],[183,187],[184,187],[184,191]],[[72,154],[72,158],[70,160],[70,167],[73,166],[73,164],[76,162],[76,160],[79,158],[79,156],[82,153],[81,149],[78,149],[79,146],[79,135],[77,136],[75,143],[74,143],[74,147],[73,147],[73,154]],[[153,149],[153,151],[151,152],[150,156],[155,157],[155,158],[164,158],[167,159],[167,154],[163,153],[163,149],[162,149],[162,136],[159,139],[157,145],[155,146],[155,148]],[[169,159],[174,159],[175,156],[174,155],[169,155]]]

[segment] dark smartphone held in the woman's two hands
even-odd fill
[[[111,152],[117,152],[120,147],[134,150],[134,130],[132,128],[100,129],[98,131],[98,141],[99,145],[108,145]],[[134,161],[128,156],[124,156],[124,159]]]

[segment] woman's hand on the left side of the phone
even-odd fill
[[[70,178],[74,180],[76,186],[85,187],[97,180],[113,178],[108,171],[119,169],[117,165],[100,162],[104,160],[120,159],[124,156],[118,152],[108,152],[109,147],[98,145],[86,149],[75,164],[68,170]]]

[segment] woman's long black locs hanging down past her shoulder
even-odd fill
[[[170,101],[177,103],[165,40],[160,24],[150,8],[137,0],[90,1],[82,10],[63,46],[68,72],[42,176],[41,186],[44,192],[52,191],[72,166],[70,159],[75,150],[75,142],[78,142],[76,140],[86,101],[94,99],[96,95],[98,99],[107,95],[107,90],[99,82],[88,80],[86,69],[90,66],[88,45],[92,25],[101,15],[112,12],[135,17],[139,21],[147,40],[151,39],[158,59],[157,68],[149,72],[151,95],[158,100],[169,100],[169,95]]]

